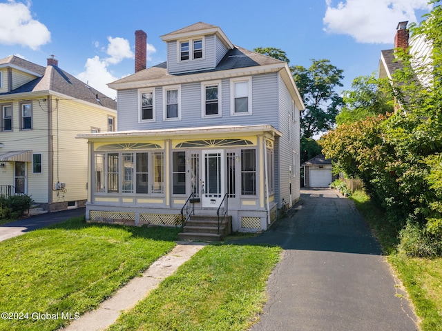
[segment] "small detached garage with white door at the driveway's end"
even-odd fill
[[[302,163],[304,168],[304,186],[306,188],[328,188],[333,181],[332,160],[323,154]]]

